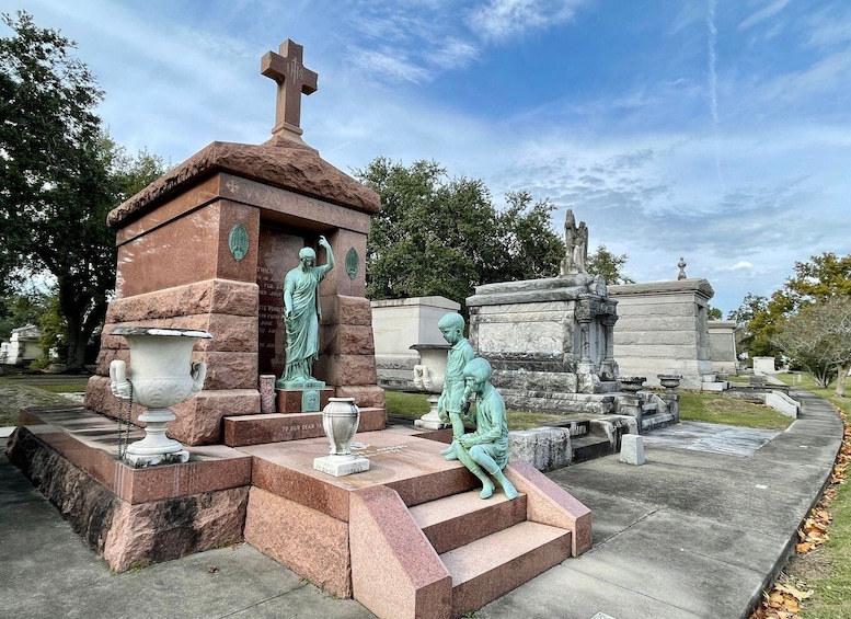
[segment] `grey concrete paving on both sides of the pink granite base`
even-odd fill
[[[680,440],[676,428],[666,432],[664,446],[647,440],[642,467],[609,456],[551,473],[591,508],[594,548],[475,617],[746,617],[785,564],[842,438],[830,404],[793,396],[804,403],[798,420],[756,451],[745,450],[749,456],[689,448],[695,428],[683,424]],[[8,617],[372,617],[248,545],[111,574],[4,457],[0,574],[0,615]]]

